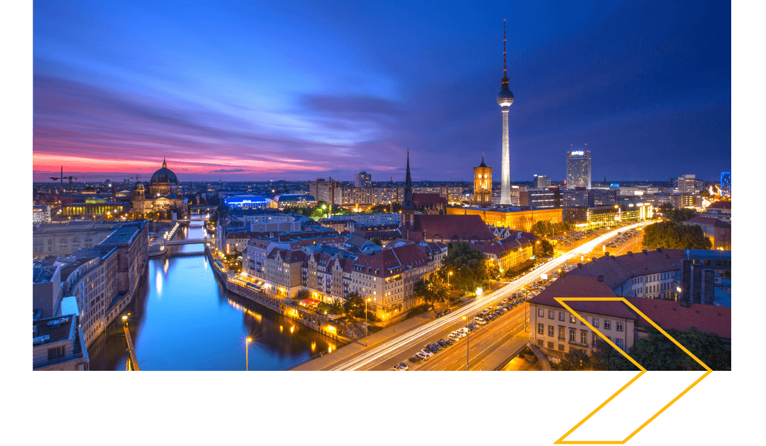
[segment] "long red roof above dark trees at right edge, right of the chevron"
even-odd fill
[[[732,339],[732,309],[692,303],[691,307],[682,307],[678,302],[663,299],[644,299],[642,297],[627,297],[628,302],[647,315],[661,328],[689,330],[696,327],[705,333],[715,333],[722,339]],[[638,325],[651,324],[639,316]]]

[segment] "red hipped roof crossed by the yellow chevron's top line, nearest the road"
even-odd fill
[[[537,303],[548,307],[564,308],[554,297],[614,297],[611,288],[599,282],[593,277],[577,277],[566,275],[555,280],[550,287],[545,289],[529,300],[529,303]],[[626,319],[637,319],[624,302],[620,301],[572,301],[567,305],[577,312],[601,314],[604,316],[624,317]]]

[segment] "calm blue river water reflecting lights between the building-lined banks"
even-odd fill
[[[201,238],[201,223],[179,229],[177,239]],[[245,339],[253,339],[250,370],[280,370],[335,350],[336,341],[294,323],[215,279],[202,244],[169,247],[149,257],[136,297],[126,309],[141,370],[244,370]],[[88,347],[91,370],[125,370],[122,323],[117,320]]]

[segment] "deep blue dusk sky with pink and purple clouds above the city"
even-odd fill
[[[35,4],[33,181],[164,156],[183,182],[401,182],[408,149],[416,181],[470,181],[501,166],[503,18],[512,182],[585,143],[594,182],[731,171],[730,4],[560,6]]]

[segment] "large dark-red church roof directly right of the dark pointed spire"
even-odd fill
[[[494,241],[480,215],[415,215],[414,230],[424,232],[424,239]]]

